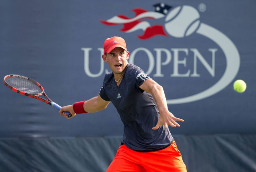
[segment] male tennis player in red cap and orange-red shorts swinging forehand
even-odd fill
[[[128,63],[125,40],[105,40],[102,59],[112,72],[105,75],[98,96],[60,109],[76,114],[98,112],[110,102],[117,108],[124,124],[124,134],[107,172],[186,172],[180,151],[168,126],[179,127],[168,110],[164,90],[138,66]]]

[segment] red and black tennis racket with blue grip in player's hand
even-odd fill
[[[3,83],[16,93],[38,99],[58,110],[60,110],[61,108],[60,105],[52,102],[52,100],[45,94],[43,87],[31,78],[22,75],[7,75],[3,78]],[[39,97],[42,95],[44,95],[45,99]],[[65,113],[68,117],[72,116],[72,114],[70,114],[69,112]]]

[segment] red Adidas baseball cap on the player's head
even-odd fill
[[[103,45],[104,54],[109,53],[116,47],[121,47],[127,51],[125,40],[123,38],[118,37],[118,36],[107,38]]]

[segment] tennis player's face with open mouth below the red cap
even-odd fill
[[[102,55],[102,59],[109,64],[114,74],[121,74],[128,64],[129,51],[116,47],[110,53]]]

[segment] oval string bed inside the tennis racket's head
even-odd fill
[[[9,77],[6,78],[5,82],[11,87],[14,87],[27,94],[37,95],[43,92],[38,85],[24,78]]]

